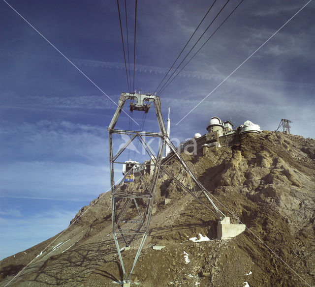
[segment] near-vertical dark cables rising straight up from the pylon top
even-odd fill
[[[120,32],[122,36],[122,44],[123,44],[123,52],[124,52],[124,60],[125,60],[125,69],[126,69],[126,79],[127,79],[127,86],[128,91],[134,90],[134,71],[135,71],[135,55],[136,55],[136,23],[137,23],[137,0],[135,0],[135,19],[134,19],[134,45],[133,45],[133,85],[131,86],[131,75],[130,75],[130,57],[129,57],[129,37],[128,37],[128,19],[127,19],[127,4],[125,0],[125,13],[126,13],[126,38],[127,38],[127,60],[126,62],[126,52],[125,52],[125,42],[124,42],[124,33],[123,33],[123,26],[122,26],[122,18],[120,13],[119,7],[119,0],[117,0],[117,7],[118,7],[118,15],[119,15],[119,24],[120,24]],[[128,68],[127,68],[128,66]],[[129,74],[129,76],[128,76]]]

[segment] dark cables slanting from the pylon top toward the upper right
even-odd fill
[[[201,20],[201,22],[199,23],[199,25],[197,26],[197,28],[195,29],[195,31],[193,32],[193,34],[190,36],[189,41],[191,40],[192,36],[195,34],[196,30],[199,28],[199,26],[201,25],[201,23],[203,22],[203,20],[205,19],[205,17],[207,16],[207,14],[209,13],[209,11],[211,10],[211,8],[213,7],[213,5],[215,4],[216,0],[212,3],[212,5],[210,6],[209,10],[207,11],[206,15],[203,17],[203,19]],[[162,79],[161,83],[158,85],[158,87],[156,88],[156,91],[158,90],[158,94],[160,94],[176,77],[177,75],[186,67],[186,65],[190,62],[190,60],[195,57],[195,55],[204,47],[204,45],[210,40],[210,38],[221,28],[221,26],[224,24],[224,22],[233,14],[233,12],[236,10],[236,8],[243,2],[243,0],[241,0],[239,2],[239,4],[232,10],[232,12],[221,22],[221,24],[219,25],[219,27],[212,33],[212,35],[205,41],[205,43],[197,50],[197,52],[189,59],[189,61],[186,62],[186,64],[181,68],[181,70],[172,78],[172,76],[176,73],[176,71],[180,68],[180,66],[183,64],[183,62],[185,61],[185,59],[189,56],[189,54],[192,52],[192,50],[195,48],[195,46],[197,45],[197,43],[200,41],[200,39],[204,36],[204,34],[206,33],[206,31],[211,27],[211,25],[214,23],[214,21],[217,19],[217,17],[220,15],[220,13],[222,12],[222,10],[225,8],[225,6],[227,5],[227,3],[229,2],[229,0],[227,0],[225,2],[225,4],[223,5],[223,7],[220,9],[220,11],[217,13],[217,15],[214,17],[214,19],[210,22],[210,24],[208,25],[208,27],[205,29],[205,31],[201,34],[201,36],[198,38],[198,40],[195,42],[195,44],[192,46],[192,48],[189,50],[189,52],[186,54],[186,56],[184,57],[184,59],[180,62],[180,64],[176,67],[176,69],[172,72],[172,74],[168,77],[168,79],[165,81],[165,83],[160,87],[160,89],[158,90],[158,87],[162,84],[162,82],[165,80],[165,78],[167,77],[168,73],[171,71],[172,67],[174,66],[175,62],[178,60],[178,58],[181,56],[181,54],[183,53],[184,49],[187,47],[189,41],[186,43],[185,47],[183,48],[183,50],[180,52],[179,56],[176,58],[176,60],[174,61],[174,63],[172,64],[171,68],[168,70],[168,72],[166,73],[166,75],[164,76],[164,78]],[[171,79],[172,78],[172,79]]]

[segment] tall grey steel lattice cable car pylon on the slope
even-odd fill
[[[154,105],[156,118],[158,121],[158,131],[132,131],[132,130],[121,130],[115,129],[115,125],[121,114],[126,100],[130,101],[130,111],[141,111],[148,113],[151,104]],[[225,215],[218,209],[215,203],[210,199],[211,194],[207,189],[200,183],[200,181],[194,176],[189,169],[181,154],[177,148],[170,141],[163,117],[161,114],[161,103],[157,95],[150,93],[126,93],[123,92],[119,98],[117,110],[108,126],[109,133],[109,164],[110,164],[110,180],[111,180],[111,206],[112,206],[112,225],[113,225],[113,236],[115,245],[117,248],[118,256],[121,262],[121,268],[124,274],[124,285],[129,286],[130,276],[139,258],[145,240],[149,234],[149,226],[151,220],[151,214],[153,209],[153,203],[155,194],[157,191],[157,183],[160,172],[164,172],[167,176],[178,184],[182,190],[191,194],[197,201],[206,206],[212,211],[209,203],[215,209],[216,215],[219,218],[225,217]],[[114,143],[115,138],[119,138],[119,135],[127,135],[129,140],[123,144],[117,153],[113,153],[113,147],[116,146]],[[149,144],[152,138],[158,138],[157,151],[154,152]],[[147,140],[149,139],[149,140]],[[124,178],[118,183],[115,183],[115,170],[114,165],[124,165],[126,157],[124,158],[124,152],[128,149],[128,146],[132,144],[134,140],[137,140],[142,144],[143,150],[149,156],[150,161],[138,164],[134,161],[134,165],[129,170],[124,172]],[[163,159],[165,148],[168,147],[170,153],[166,158]],[[190,183],[185,184],[178,179],[178,176],[174,176],[173,170],[168,169],[168,163],[177,158],[177,169],[179,173],[186,173],[190,178]],[[148,164],[149,162],[149,164]],[[128,162],[130,163],[130,161]],[[145,175],[145,169],[150,168],[149,180]],[[122,170],[122,169],[120,169]],[[116,169],[117,171],[117,169]],[[132,173],[137,174],[137,180],[142,182],[142,185],[136,185],[137,182],[126,183],[126,178]],[[140,239],[141,238],[141,239]],[[129,271],[126,271],[124,264],[122,251],[130,248],[131,243],[138,245],[136,255],[134,257]],[[123,247],[122,247],[123,246]]]

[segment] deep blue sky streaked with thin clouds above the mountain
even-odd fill
[[[127,85],[116,1],[7,2],[118,102]],[[127,2],[132,46],[134,1]],[[201,32],[224,2],[217,1]],[[156,89],[211,3],[138,1],[136,89]],[[171,109],[171,138],[204,134],[213,115],[231,119],[236,126],[249,119],[268,130],[275,130],[281,118],[314,118],[311,1],[175,125],[306,3],[245,0],[160,94],[165,120]],[[206,36],[237,4],[230,1]],[[4,1],[0,27],[0,258],[4,258],[60,232],[82,206],[109,189],[107,126],[115,105]],[[127,122],[126,115],[122,117]],[[136,119],[141,121],[139,115]],[[153,118],[146,123],[152,128]],[[315,138],[311,123],[291,126],[293,134]],[[120,127],[127,128],[123,123]]]

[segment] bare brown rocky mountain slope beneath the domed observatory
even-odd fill
[[[315,286],[315,140],[264,131],[233,148],[183,157],[231,223],[247,229],[217,240],[216,215],[161,174],[131,286]],[[127,268],[135,253],[132,245],[122,251]],[[115,287],[122,279],[109,193],[84,206],[68,229],[0,261],[0,286]]]

